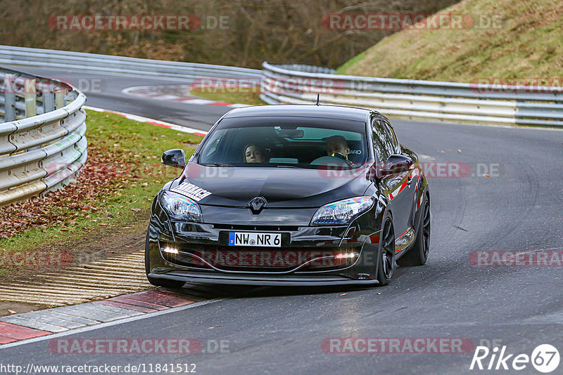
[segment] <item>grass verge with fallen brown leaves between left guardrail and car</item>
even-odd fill
[[[148,223],[153,197],[180,173],[160,164],[160,155],[182,148],[187,158],[202,139],[117,114],[87,114],[89,157],[77,182],[0,208],[0,254],[80,244],[93,235],[115,235],[139,221]],[[9,261],[0,259],[0,274],[13,268]]]

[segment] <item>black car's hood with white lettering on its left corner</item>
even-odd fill
[[[248,207],[251,199],[264,197],[270,209],[319,207],[363,195],[371,183],[366,171],[207,167],[189,163],[168,189],[183,192],[202,205]]]

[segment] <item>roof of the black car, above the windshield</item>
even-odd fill
[[[365,108],[343,107],[339,105],[255,105],[252,107],[240,107],[231,110],[224,115],[229,117],[261,117],[261,116],[295,116],[295,117],[329,117],[337,119],[350,119],[355,121],[365,121],[369,112]],[[376,112],[377,113],[377,112]]]

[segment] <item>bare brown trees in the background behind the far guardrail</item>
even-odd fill
[[[335,30],[333,13],[431,14],[457,0],[1,0],[2,44],[139,58],[260,67],[305,62],[338,67],[396,30]],[[196,15],[194,30],[60,30],[56,15]],[[210,20],[227,20],[227,28]]]

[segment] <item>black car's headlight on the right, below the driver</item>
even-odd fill
[[[374,197],[354,197],[325,204],[312,216],[312,224],[348,224],[352,218],[372,208]]]

